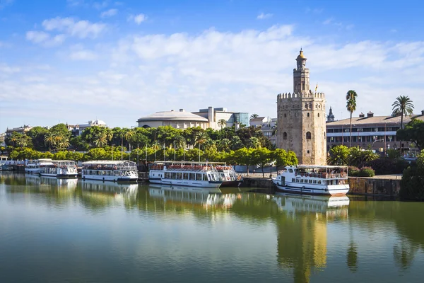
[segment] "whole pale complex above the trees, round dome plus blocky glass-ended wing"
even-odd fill
[[[220,120],[225,120],[221,125]],[[199,112],[160,111],[137,120],[139,127],[171,126],[175,129],[187,129],[190,127],[201,127],[202,129],[221,127],[232,127],[232,125],[249,125],[249,113],[228,112],[226,108],[200,109]]]

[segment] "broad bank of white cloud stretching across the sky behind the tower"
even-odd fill
[[[0,84],[0,100],[24,113],[30,113],[34,105],[40,112],[66,105],[68,111],[49,112],[50,121],[60,117],[81,122],[75,121],[77,110],[79,117],[95,113],[100,118],[107,113],[103,119],[119,127],[134,125],[137,118],[155,111],[194,111],[208,105],[276,117],[276,95],[293,91],[295,57],[302,46],[311,87],[319,83],[319,91],[326,93],[327,110],[332,105],[336,118],[347,116],[343,93],[349,89],[358,92],[358,110],[372,110],[375,115],[387,115],[400,94],[410,96],[416,109],[423,108],[424,42],[329,42],[328,38],[300,35],[293,25],[239,32],[209,29],[199,34],[123,35],[112,47],[73,46],[66,50],[65,62],[61,58],[54,62],[60,66],[57,69],[23,71],[24,67],[14,66],[20,71],[4,72],[7,79]],[[69,59],[78,60],[73,62],[78,67],[59,71]],[[89,61],[93,59],[98,64]],[[48,100],[52,96],[56,99]],[[16,102],[28,97],[28,105]],[[258,98],[261,103],[256,103]],[[139,105],[148,108],[141,110]],[[11,119],[20,125],[25,115],[7,121]],[[32,124],[44,120],[40,121]],[[0,126],[6,128],[4,123],[0,121]]]

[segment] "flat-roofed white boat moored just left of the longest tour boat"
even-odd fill
[[[83,162],[81,177],[83,180],[136,183],[139,174],[135,162],[98,160]]]

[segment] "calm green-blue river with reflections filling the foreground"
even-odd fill
[[[0,173],[0,282],[422,282],[424,203]]]

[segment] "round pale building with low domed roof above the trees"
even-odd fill
[[[208,119],[191,112],[186,112],[184,109],[180,109],[179,111],[170,110],[155,112],[146,117],[141,117],[137,120],[137,123],[139,123],[139,127],[143,128],[171,126],[175,129],[187,129],[189,127],[207,129],[209,125]]]

